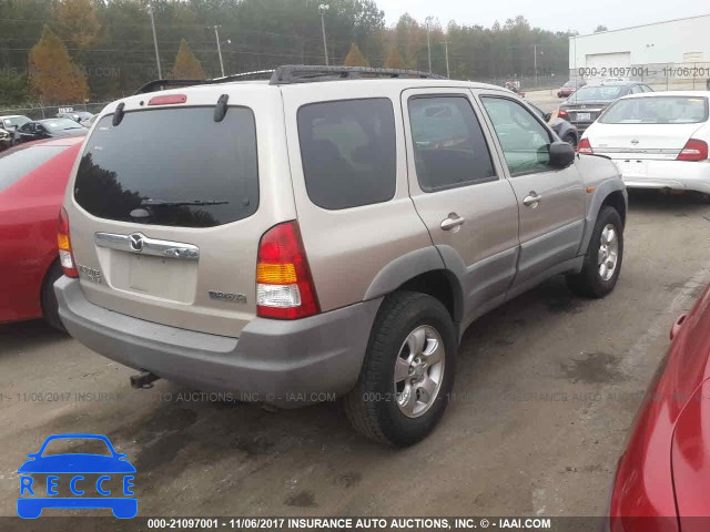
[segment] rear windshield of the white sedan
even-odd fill
[[[708,99],[648,96],[619,100],[599,122],[605,124],[698,124],[708,120]]]

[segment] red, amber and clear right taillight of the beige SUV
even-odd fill
[[[298,224],[272,227],[258,243],[256,315],[297,319],[320,311]]]

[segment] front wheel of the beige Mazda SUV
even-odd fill
[[[609,238],[608,229],[613,229],[613,239],[606,244],[606,252],[602,250],[602,234],[605,242]],[[616,241],[616,250],[615,244]],[[609,274],[609,267],[601,268],[600,253],[607,253],[607,257],[613,260],[613,269]],[[604,206],[599,211],[595,229],[591,233],[589,247],[585,255],[585,263],[579,274],[567,276],[567,286],[575,294],[584,297],[600,298],[613,290],[621,272],[623,259],[623,224],[619,213],[610,206]],[[608,263],[607,263],[608,264]]]

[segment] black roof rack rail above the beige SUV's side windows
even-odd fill
[[[371,66],[321,66],[310,64],[285,64],[274,70],[270,85],[308,83],[312,81],[357,80],[363,78],[422,78],[445,80],[443,75],[418,70],[374,69]]]

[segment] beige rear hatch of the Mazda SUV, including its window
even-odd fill
[[[65,201],[81,287],[121,314],[239,337],[256,311],[260,238],[295,218],[281,95],[261,84],[180,95],[131,98],[120,123],[111,112],[92,130]]]

